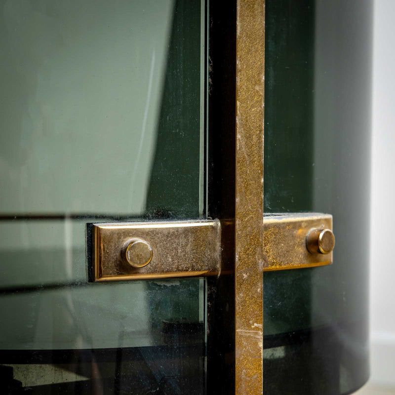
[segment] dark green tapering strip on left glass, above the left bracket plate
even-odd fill
[[[174,6],[167,72],[158,119],[155,159],[147,196],[148,214],[197,218],[200,145],[200,1]],[[200,74],[201,73],[201,74]],[[204,77],[203,77],[204,78]]]

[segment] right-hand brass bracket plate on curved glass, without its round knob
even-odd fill
[[[306,238],[311,230],[332,231],[331,215],[268,215],[264,216],[263,227],[264,271],[324,266],[332,263],[332,252],[311,253],[306,245]]]

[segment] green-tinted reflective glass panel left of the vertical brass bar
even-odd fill
[[[204,217],[204,1],[1,1],[0,392],[202,394],[201,279],[90,284],[86,223]]]

